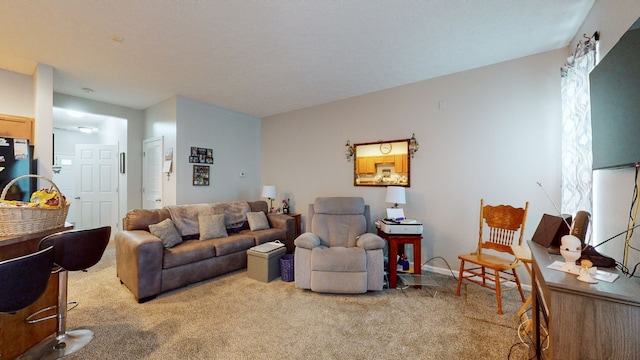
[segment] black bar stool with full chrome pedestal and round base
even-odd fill
[[[82,349],[93,339],[93,331],[88,329],[67,331],[68,272],[85,271],[97,264],[109,244],[110,235],[111,227],[105,226],[88,230],[63,231],[49,235],[40,241],[39,248],[53,247],[54,263],[60,267],[55,270],[58,272],[58,305],[52,307],[57,312],[52,316],[33,319],[38,314],[52,310],[52,308],[42,309],[29,316],[27,322],[35,323],[55,317],[58,319],[58,328],[53,340],[43,340],[24,353],[23,359],[59,359]],[[75,307],[77,302],[72,304]]]

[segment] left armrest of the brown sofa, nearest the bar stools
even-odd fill
[[[116,233],[116,274],[138,302],[153,298],[162,286],[162,240],[144,230]]]

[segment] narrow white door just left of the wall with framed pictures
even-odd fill
[[[163,138],[144,140],[142,144],[142,208],[162,208]]]

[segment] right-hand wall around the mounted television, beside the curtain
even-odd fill
[[[595,31],[599,31],[599,57],[603,58],[638,17],[640,2],[636,0],[598,0],[578,30],[571,49],[575,48],[578,41],[584,39],[583,34],[591,36]],[[593,172],[594,243],[598,244],[627,229],[635,185],[633,168]],[[640,230],[635,231],[636,235],[631,239],[632,246],[636,248],[640,247],[640,235],[637,235],[639,232]],[[617,237],[597,250],[622,262],[625,236]],[[630,254],[629,266],[640,262],[640,254],[637,251],[631,251]]]

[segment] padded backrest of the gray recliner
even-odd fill
[[[310,206],[311,232],[324,246],[356,246],[367,232],[366,206],[361,197],[319,197]]]

